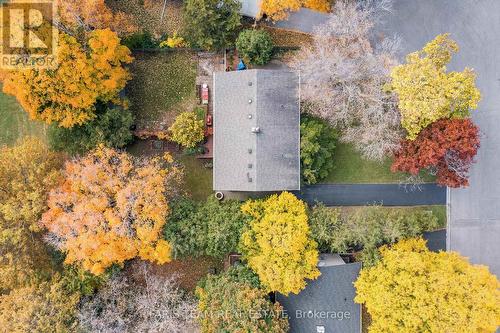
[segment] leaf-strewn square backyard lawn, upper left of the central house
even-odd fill
[[[127,96],[139,125],[173,122],[192,110],[196,98],[196,62],[189,52],[137,53],[130,66]],[[153,125],[154,127],[154,125]]]

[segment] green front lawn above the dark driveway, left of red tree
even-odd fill
[[[392,173],[391,159],[374,162],[363,159],[351,144],[339,142],[334,154],[335,169],[322,183],[398,183],[407,176],[403,173]],[[426,182],[434,177],[422,173]]]

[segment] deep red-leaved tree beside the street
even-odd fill
[[[479,145],[479,129],[470,119],[441,119],[415,140],[401,143],[391,170],[416,175],[421,169],[431,169],[438,184],[465,187]]]

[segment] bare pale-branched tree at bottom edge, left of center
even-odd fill
[[[157,275],[142,264],[133,276],[120,273],[82,301],[85,332],[198,332],[195,301],[174,278]]]

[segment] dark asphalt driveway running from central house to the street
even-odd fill
[[[319,184],[305,186],[297,197],[326,206],[419,206],[446,204],[446,189],[422,184],[411,191],[399,184]]]

